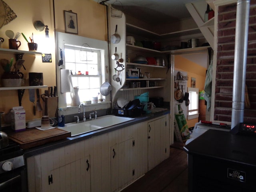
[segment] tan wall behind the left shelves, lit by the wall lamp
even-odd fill
[[[5,41],[1,48],[8,48],[8,37],[6,30],[23,32],[27,38],[34,34],[34,42],[38,43],[38,52],[52,54],[52,63],[42,63],[40,55],[24,54],[25,60],[23,68],[20,69],[24,73],[24,78],[28,81],[28,72],[43,72],[44,84],[47,86],[56,85],[56,64],[55,64],[55,39],[54,39],[54,14],[52,0],[4,0],[6,4],[16,13],[17,18],[3,26],[0,29],[0,37]],[[56,28],[60,32],[65,32],[64,29],[64,14],[63,10],[72,10],[78,15],[78,35],[95,38],[99,40],[107,40],[106,30],[106,8],[92,0],[54,0],[56,10]],[[45,38],[45,32],[38,32],[33,26],[33,22],[41,20],[45,25],[48,25],[50,38]],[[26,41],[22,36],[18,38],[22,45],[19,50],[28,51]],[[57,54],[59,51],[57,50]],[[0,53],[0,59],[14,57],[13,54]],[[2,75],[0,68],[0,76]],[[40,94],[44,93],[44,89],[40,89]],[[41,100],[42,104],[42,100]],[[18,106],[17,90],[0,90],[0,111],[9,112],[13,106]],[[42,112],[36,111],[36,116],[32,112],[32,102],[29,101],[28,90],[25,90],[22,106],[26,110],[26,120],[41,118]]]

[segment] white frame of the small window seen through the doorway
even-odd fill
[[[192,92],[196,93],[196,96],[192,98]],[[190,104],[188,105],[188,120],[198,118],[199,116],[199,89],[188,87]],[[196,109],[190,110],[192,103],[197,103]],[[196,112],[196,114],[190,114],[190,112]]]

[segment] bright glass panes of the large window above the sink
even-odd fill
[[[102,85],[101,54],[98,49],[64,45],[66,69],[72,72],[72,84],[78,86],[80,102],[98,96]],[[80,72],[80,73],[79,73]],[[67,105],[71,103],[70,93],[66,93]],[[100,95],[99,95],[100,98]]]

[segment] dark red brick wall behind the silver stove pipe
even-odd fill
[[[236,28],[236,3],[218,7],[218,49],[214,120],[231,122]],[[244,122],[256,122],[256,0],[250,1],[246,85],[250,109]]]

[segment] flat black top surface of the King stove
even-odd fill
[[[256,166],[256,138],[234,135],[221,130],[208,130],[186,146],[184,150],[193,155],[239,162]]]

